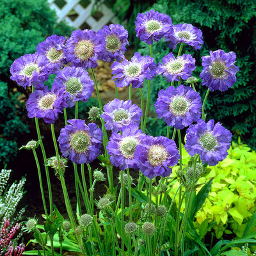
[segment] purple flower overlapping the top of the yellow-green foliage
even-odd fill
[[[214,125],[213,119],[207,123],[200,119],[188,128],[185,148],[190,156],[200,154],[202,163],[213,166],[227,157],[231,138],[231,132],[219,122]]]

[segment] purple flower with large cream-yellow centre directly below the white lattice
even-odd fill
[[[72,66],[97,67],[98,54],[102,51],[99,36],[93,30],[74,30],[66,42],[65,55]]]

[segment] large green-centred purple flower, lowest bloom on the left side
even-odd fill
[[[58,142],[63,157],[73,163],[91,163],[100,155],[103,132],[96,124],[85,124],[84,120],[71,119],[61,129]]]

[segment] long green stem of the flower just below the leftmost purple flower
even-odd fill
[[[62,190],[63,190],[65,205],[66,205],[66,208],[67,208],[68,217],[69,217],[69,219],[71,221],[71,226],[75,230],[76,229],[76,219],[74,217],[74,213],[72,211],[72,207],[71,207],[70,200],[69,200],[69,197],[68,197],[65,179],[64,179],[63,174],[61,172],[60,155],[59,155],[59,151],[58,151],[58,146],[57,146],[57,141],[56,141],[56,137],[55,137],[54,125],[53,124],[51,124],[51,132],[52,132],[52,140],[53,140],[53,143],[54,143],[56,157],[57,157],[57,161],[58,161],[58,168],[59,168],[59,173],[60,173],[61,187],[62,187]],[[85,254],[85,251],[84,251],[83,241],[82,241],[81,235],[76,235],[76,237],[77,237],[77,241],[78,241],[79,247],[81,248],[81,252],[82,252],[83,256],[85,256],[86,254]]]

